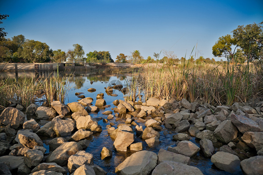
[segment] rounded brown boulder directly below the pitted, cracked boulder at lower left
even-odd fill
[[[32,166],[37,166],[42,161],[44,154],[39,150],[28,149],[24,154],[25,164],[31,168]]]

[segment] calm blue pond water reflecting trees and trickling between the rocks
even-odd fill
[[[15,78],[14,73],[6,73],[5,75],[3,73],[1,74],[3,77],[10,76],[10,78]],[[24,75],[35,76],[35,73],[34,72],[24,72],[23,75],[19,75],[19,76],[24,77]],[[60,76],[68,76],[68,75],[70,75],[69,72],[60,73]],[[105,93],[104,87],[113,86],[111,85],[112,83],[122,84],[125,87],[127,84],[126,81],[129,78],[131,78],[131,75],[99,75],[98,73],[75,72],[74,77],[70,81],[70,86],[72,86],[72,88],[69,90],[68,99],[65,101],[65,104],[80,100],[80,98],[78,98],[75,95],[75,93],[78,92],[78,93],[83,93],[81,95],[84,95],[85,97],[92,97],[94,99],[92,104],[95,105],[97,94],[104,93],[104,99],[106,100],[107,105],[110,105],[110,107],[105,108],[105,109],[100,109],[98,113],[90,113],[90,115],[93,118],[99,118],[99,117],[107,118],[108,115],[103,115],[102,112],[108,111],[108,110],[113,111],[113,108],[115,106],[113,105],[112,102],[117,99],[123,100],[124,95],[118,90],[113,90],[113,93],[118,95],[117,97],[107,95],[107,93]],[[89,88],[95,88],[96,91],[92,93],[88,92],[87,89]],[[115,113],[113,112],[113,115],[114,114]],[[98,121],[98,124],[102,126],[102,132],[94,134],[93,138],[90,139],[90,144],[86,148],[85,151],[91,153],[94,156],[94,164],[97,164],[100,167],[102,167],[106,172],[108,172],[107,174],[115,174],[115,168],[134,152],[125,153],[125,152],[119,152],[119,151],[113,150],[114,140],[108,136],[107,128],[106,128],[106,126],[109,125],[109,122],[115,123],[113,127],[117,128],[117,125],[120,123],[124,123],[125,120],[116,121],[116,117],[114,117],[113,119],[109,120],[107,123],[103,122],[102,120]],[[140,122],[137,120],[135,120],[135,122],[138,125],[143,126],[143,129],[145,129],[143,122]],[[156,154],[158,154],[158,151],[161,148],[167,150],[169,146],[172,146],[172,147],[176,146],[176,142],[172,140],[172,136],[176,134],[177,132],[174,129],[166,129],[164,126],[162,127],[163,129],[160,131],[160,145],[155,146],[155,147],[149,147],[146,144],[146,142],[138,138],[138,136],[135,137],[134,143],[143,142],[143,150],[153,151]],[[135,128],[135,126],[133,126],[133,128]],[[168,133],[165,131],[168,131]],[[136,135],[135,130],[134,130],[134,133]],[[46,141],[48,140],[50,140],[50,138],[43,140],[43,142],[46,143]],[[196,144],[198,147],[200,147],[199,141],[195,139],[195,137],[191,137],[190,141]],[[49,152],[48,145],[44,144],[44,146],[47,149],[47,152]],[[100,152],[102,151],[103,147],[106,147],[113,151],[112,158],[101,160]],[[215,149],[217,151],[218,148],[215,148]],[[213,175],[215,174],[243,174],[241,170],[235,173],[228,173],[228,172],[217,169],[216,166],[214,166],[213,163],[210,161],[210,158],[205,158],[202,155],[201,151],[199,151],[197,155],[191,158],[190,165],[198,167],[204,174],[213,174]]]

